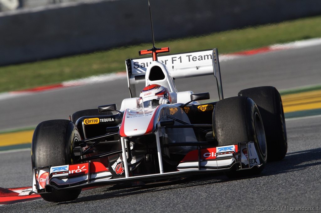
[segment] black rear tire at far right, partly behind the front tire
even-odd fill
[[[285,117],[279,91],[272,86],[241,90],[239,96],[247,96],[258,107],[265,129],[268,161],[282,160],[288,151]]]

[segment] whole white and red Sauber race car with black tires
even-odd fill
[[[225,171],[260,173],[267,159],[287,152],[279,92],[245,89],[224,99],[217,49],[157,57],[169,48],[127,59],[131,98],[41,122],[32,139],[33,191],[46,201],[76,199],[81,189],[147,183]],[[214,75],[219,101],[209,93],[177,91],[174,79]],[[145,83],[140,95],[135,85]],[[203,100],[203,104],[198,101]]]

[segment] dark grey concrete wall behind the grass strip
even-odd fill
[[[155,40],[321,14],[317,0],[151,0]],[[147,0],[0,15],[0,65],[151,41]]]

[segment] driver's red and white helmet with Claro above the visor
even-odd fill
[[[161,98],[168,99],[169,102],[172,102],[166,87],[158,84],[148,85],[140,92],[139,107],[158,106]]]

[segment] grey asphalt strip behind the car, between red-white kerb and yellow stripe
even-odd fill
[[[236,96],[240,90],[255,86],[285,90],[320,84],[320,52],[321,45],[317,45],[222,61],[224,97]],[[176,87],[178,91],[210,92],[211,98],[218,99],[213,76],[178,79]],[[140,85],[137,90],[142,88]],[[126,78],[0,100],[0,130],[36,126],[50,119],[68,119],[75,111],[104,104],[116,103],[120,108],[124,98],[129,98]]]

